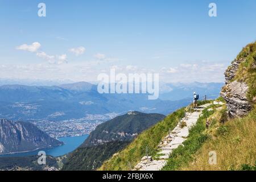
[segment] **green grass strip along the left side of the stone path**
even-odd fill
[[[146,147],[148,155],[156,156],[158,152],[158,144],[166,137],[169,130],[173,130],[180,118],[184,117],[185,108],[181,108],[174,113],[168,115],[163,121],[156,123],[150,129],[145,130],[137,138],[129,144],[124,150],[114,154],[112,158],[104,162],[98,170],[106,171],[126,171],[131,167],[136,166],[143,156],[146,156]]]

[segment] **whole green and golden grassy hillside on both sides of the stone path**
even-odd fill
[[[188,139],[172,152],[167,166],[163,170],[255,170],[256,162],[256,109],[243,118],[227,121],[226,106],[210,106],[203,111],[197,124],[192,127]],[[169,115],[164,121],[156,124],[139,135],[130,146],[105,162],[101,170],[129,170],[128,162],[135,166],[142,156],[147,143],[152,147],[150,155],[155,155],[156,146],[167,133],[167,126],[175,126],[184,109]],[[210,126],[206,127],[206,122]],[[224,123],[225,122],[225,123]],[[167,124],[168,123],[168,124]],[[163,126],[164,125],[164,126]],[[161,128],[166,129],[164,132]],[[158,131],[158,132],[156,132]],[[159,136],[162,137],[159,137]],[[158,137],[156,137],[158,136]],[[150,148],[150,147],[149,147]],[[210,165],[209,152],[216,151],[217,165]]]

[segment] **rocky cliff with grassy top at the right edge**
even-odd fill
[[[256,43],[240,52],[225,72],[225,86],[221,96],[225,99],[230,117],[246,115],[255,99]]]

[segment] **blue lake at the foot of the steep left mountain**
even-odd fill
[[[0,157],[14,157],[14,156],[30,156],[30,155],[38,155],[39,151],[45,151],[46,155],[51,155],[51,156],[61,156],[68,154],[69,152],[72,152],[75,150],[77,147],[84,142],[84,140],[88,137],[89,135],[83,135],[80,137],[61,137],[59,140],[61,142],[64,142],[63,146],[57,146],[53,148],[45,148],[41,150],[36,150],[36,151],[31,151],[31,152],[24,152],[24,153],[17,153],[17,154],[6,154],[6,155],[0,155]]]

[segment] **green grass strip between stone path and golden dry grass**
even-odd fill
[[[179,146],[172,152],[167,165],[162,169],[163,171],[179,170],[181,167],[187,166],[193,160],[193,154],[209,138],[208,134],[204,133],[206,129],[205,121],[214,113],[214,110],[208,111],[208,109],[209,107],[203,110],[203,115],[198,119],[196,125],[189,130],[189,136],[183,142],[183,146]]]

